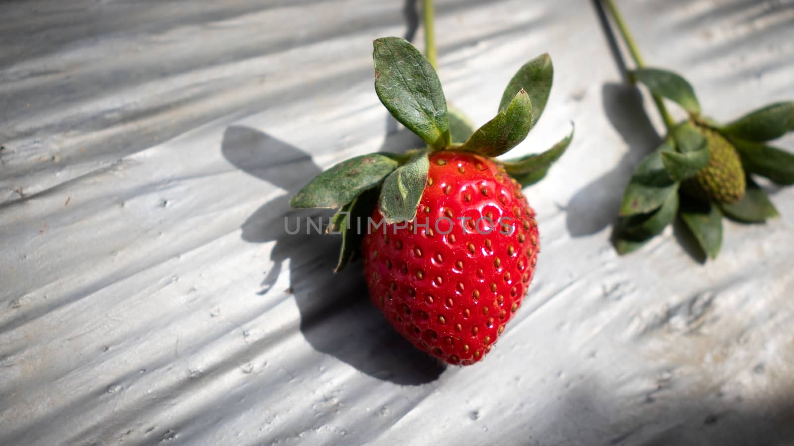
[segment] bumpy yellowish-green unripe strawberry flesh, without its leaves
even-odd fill
[[[688,182],[687,190],[709,202],[738,202],[744,197],[746,183],[736,148],[719,132],[700,126],[698,129],[706,136],[710,157],[708,165]]]

